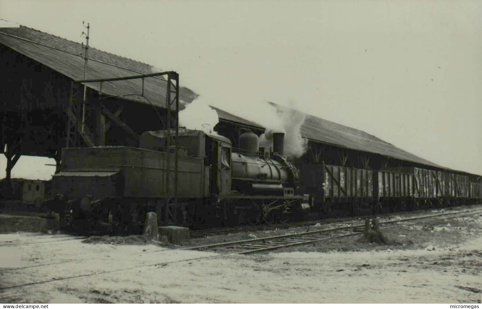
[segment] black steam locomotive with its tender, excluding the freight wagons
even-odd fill
[[[168,135],[145,132],[140,148],[62,149],[48,207],[67,226],[130,232],[142,228],[152,211],[163,224],[202,228],[284,222],[309,207],[297,190],[299,170],[283,155],[283,133],[273,134],[271,151],[259,148],[251,132],[232,148],[219,134],[179,129],[175,178]]]

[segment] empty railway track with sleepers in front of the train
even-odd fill
[[[405,218],[405,219],[388,220],[388,221],[380,222],[379,224],[383,226],[383,228],[389,228],[393,226],[400,226],[401,222],[409,222],[408,224],[416,224],[418,220],[429,219],[434,217],[438,217],[438,218],[430,221],[439,221],[447,218],[454,218],[454,217],[467,216],[467,215],[478,215],[478,214],[482,214],[482,210],[480,209],[465,210],[465,211],[453,212],[453,213],[425,215],[425,216]],[[405,224],[405,225],[408,225],[408,224]],[[362,234],[362,231],[360,231],[360,228],[363,228],[363,227],[364,227],[364,224],[354,225],[349,227],[326,228],[326,229],[320,229],[315,231],[307,231],[303,233],[294,233],[289,235],[270,236],[270,237],[264,237],[264,238],[235,241],[235,242],[214,243],[214,244],[208,244],[208,245],[202,245],[202,246],[196,246],[196,247],[189,247],[183,250],[200,250],[200,251],[233,253],[233,254],[259,253],[259,252],[271,251],[271,250],[276,250],[276,249],[295,246],[295,245],[303,245],[303,244],[320,242],[320,241],[325,241],[325,240],[334,239],[334,238]]]

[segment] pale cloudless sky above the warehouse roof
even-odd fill
[[[89,22],[92,47],[175,70],[228,112],[295,105],[479,175],[481,16],[482,1],[462,0],[0,0],[0,18],[68,40]],[[13,176],[53,173],[31,162]]]

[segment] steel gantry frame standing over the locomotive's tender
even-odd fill
[[[102,83],[125,81],[142,79],[143,89],[142,94],[125,94],[125,95],[113,95],[115,97],[126,97],[130,95],[138,95],[145,98],[149,103],[150,101],[144,96],[144,79],[156,76],[167,76],[166,86],[166,116],[165,116],[165,136],[166,136],[166,169],[165,169],[165,186],[164,186],[164,214],[161,221],[166,224],[176,223],[177,217],[177,176],[178,176],[178,143],[177,137],[179,134],[178,115],[179,115],[179,74],[174,71],[166,71],[160,73],[143,74],[135,76],[108,78],[108,79],[95,79],[95,80],[81,80],[72,81],[70,86],[70,99],[68,105],[65,107],[67,114],[67,136],[66,136],[66,148],[74,148],[80,146],[80,137],[88,147],[105,146],[105,121],[100,120],[97,122],[97,126],[102,128],[99,136],[94,136],[87,123],[82,126],[82,114],[83,107],[80,106],[79,100],[79,86],[80,84],[86,85],[87,83],[99,83],[99,98],[102,94]],[[109,95],[111,96],[111,95]],[[95,106],[98,110],[99,119],[105,117],[112,120],[114,123],[122,127],[127,133],[135,135],[138,139],[138,134],[134,132],[127,124],[123,123],[115,113],[112,113],[105,107],[102,101],[99,99],[98,106]],[[172,134],[171,127],[174,126],[174,136]],[[95,130],[99,131],[99,130]],[[104,137],[102,136],[104,135]],[[174,173],[172,173],[172,151],[174,148]],[[173,175],[174,174],[174,175]],[[173,190],[170,190],[170,184],[173,182]]]

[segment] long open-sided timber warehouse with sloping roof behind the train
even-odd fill
[[[80,43],[28,27],[0,28],[0,70],[3,73],[0,152],[7,158],[7,178],[21,155],[45,156],[60,162],[60,149],[66,147],[68,140],[66,107],[72,96],[82,100],[83,85],[75,84],[72,88],[71,82],[84,77],[84,50]],[[89,79],[154,72],[150,65],[95,48],[89,48],[88,58]],[[99,93],[105,97],[103,104],[107,107],[107,111],[99,115],[109,115],[101,131],[94,128],[96,146],[138,147],[139,134],[164,129],[160,117],[166,114],[165,78],[104,85],[89,83],[87,86],[87,102],[92,102],[88,106],[93,110],[91,118],[95,118],[94,102],[98,102]],[[141,91],[142,96],[138,95]],[[198,94],[190,89],[180,87],[179,108],[183,109],[197,97]],[[214,130],[231,139],[234,147],[245,130],[258,135],[265,131],[259,124],[214,109],[219,116]],[[301,134],[308,139],[307,152],[299,159],[302,161],[371,169],[420,166],[449,170],[373,135],[312,115],[306,115]],[[79,146],[82,146],[81,141]]]

